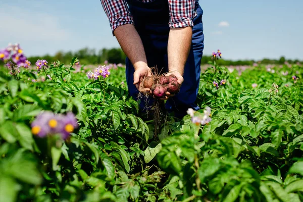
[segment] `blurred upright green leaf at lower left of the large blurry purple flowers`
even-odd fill
[[[17,123],[16,129],[19,133],[19,143],[26,149],[33,150],[33,135],[30,128],[24,123]]]

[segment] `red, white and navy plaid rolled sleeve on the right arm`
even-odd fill
[[[168,0],[170,28],[193,26],[196,0]]]

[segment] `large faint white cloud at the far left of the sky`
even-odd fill
[[[71,36],[69,31],[60,27],[58,17],[42,13],[38,9],[34,11],[2,5],[0,41],[62,41]]]

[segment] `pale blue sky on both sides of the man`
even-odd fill
[[[27,56],[119,47],[99,0],[0,0],[0,48],[19,42]],[[303,60],[302,0],[199,1],[205,55]]]

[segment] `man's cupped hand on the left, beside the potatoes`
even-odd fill
[[[144,77],[151,76],[151,70],[147,65],[142,65],[135,68],[134,72],[134,85],[140,92],[150,92],[149,88],[144,88],[142,84],[142,80]]]

